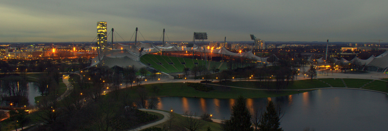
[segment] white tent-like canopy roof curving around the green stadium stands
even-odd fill
[[[108,67],[113,66],[130,66],[135,65],[137,68],[146,66],[144,63],[140,62],[140,57],[147,53],[155,53],[160,51],[194,51],[194,52],[204,52],[204,53],[216,53],[216,54],[225,54],[230,56],[239,56],[245,57],[252,60],[257,60],[262,63],[268,63],[266,58],[255,56],[255,54],[250,51],[244,53],[232,53],[225,48],[219,49],[204,49],[202,47],[193,45],[192,48],[188,47],[178,47],[175,44],[163,44],[161,46],[156,46],[154,44],[144,44],[141,42],[136,43],[135,45],[123,45],[116,44],[115,49],[104,49],[99,56],[92,59],[91,66],[97,66],[97,64],[105,65]],[[141,55],[139,50],[144,48]],[[276,56],[274,56],[276,58]],[[278,60],[278,58],[276,58]]]

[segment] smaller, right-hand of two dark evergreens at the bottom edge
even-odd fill
[[[259,131],[283,131],[279,128],[279,112],[275,109],[272,101],[268,102],[267,111],[264,112],[259,124]]]

